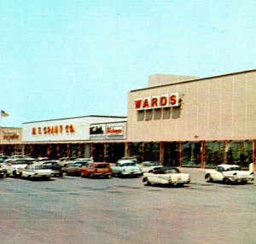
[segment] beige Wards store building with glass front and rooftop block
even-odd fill
[[[255,166],[256,70],[152,75],[128,95],[129,154],[170,166]]]

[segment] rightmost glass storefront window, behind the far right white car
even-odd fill
[[[253,142],[230,142],[227,162],[248,168],[253,163]]]

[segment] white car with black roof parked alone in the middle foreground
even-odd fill
[[[190,176],[188,173],[182,173],[176,167],[155,167],[143,174],[143,183],[183,186],[185,183],[190,183]]]

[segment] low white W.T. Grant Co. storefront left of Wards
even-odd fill
[[[24,154],[93,157],[115,162],[125,155],[126,117],[84,116],[24,123]]]

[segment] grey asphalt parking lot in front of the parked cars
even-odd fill
[[[255,243],[255,184],[145,186],[142,177],[0,180],[1,243]]]

